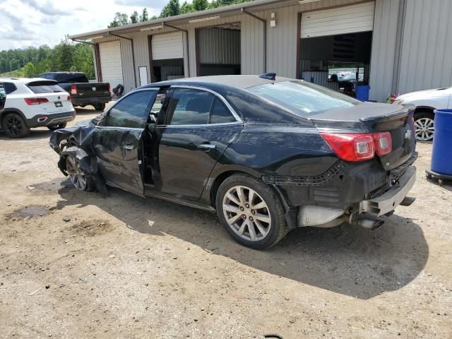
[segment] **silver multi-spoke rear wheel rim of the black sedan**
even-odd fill
[[[270,232],[270,209],[253,189],[246,186],[232,187],[223,198],[222,208],[227,225],[239,237],[257,242]]]

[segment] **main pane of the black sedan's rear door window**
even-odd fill
[[[203,90],[176,88],[169,100],[167,125],[208,124],[215,95]]]

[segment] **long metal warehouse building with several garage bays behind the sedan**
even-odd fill
[[[451,0],[255,0],[73,35],[90,40],[97,81],[140,85],[260,74],[327,85],[355,64],[370,99],[452,85]]]

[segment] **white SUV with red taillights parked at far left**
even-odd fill
[[[11,138],[23,138],[30,129],[61,129],[76,117],[71,96],[57,81],[42,78],[0,78],[6,91],[1,129]]]

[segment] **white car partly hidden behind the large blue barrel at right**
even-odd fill
[[[420,141],[432,140],[434,135],[434,109],[452,108],[452,87],[421,90],[396,97],[394,104],[416,106],[416,138]]]

